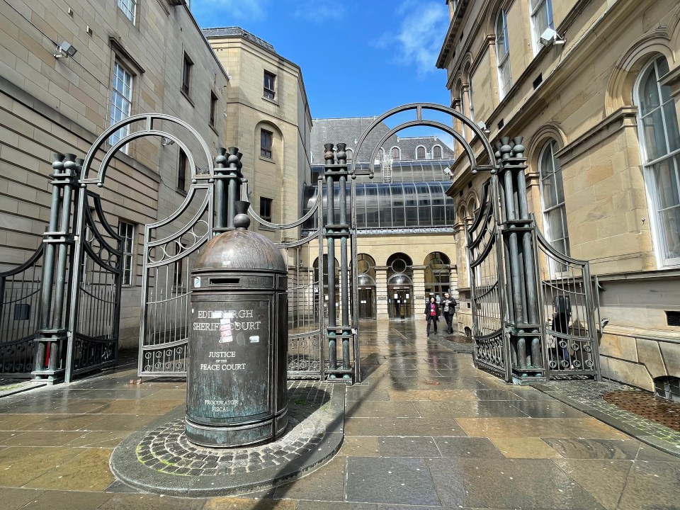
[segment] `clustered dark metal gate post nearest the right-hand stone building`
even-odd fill
[[[535,223],[526,198],[526,157],[522,137],[500,141],[498,183],[501,188],[502,237],[509,260],[507,302],[511,305],[509,337],[512,351],[512,379],[518,384],[545,379],[541,339],[543,327],[538,310],[536,260],[533,239]]]

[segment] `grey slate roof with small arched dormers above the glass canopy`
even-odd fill
[[[356,147],[361,135],[375,122],[375,117],[350,117],[350,118],[320,118],[312,120],[312,162],[322,164],[324,162],[324,143],[338,144],[344,142],[348,149]],[[370,157],[370,152],[378,145],[380,139],[390,131],[385,123],[380,123],[363,142],[361,154],[354,154],[354,159],[365,162]],[[392,135],[382,147],[389,152],[392,147],[401,149],[401,159],[416,159],[416,147],[425,147],[428,157],[431,157],[432,148],[439,145],[442,149],[442,159],[454,159],[453,151],[437,136],[427,137],[397,137]]]

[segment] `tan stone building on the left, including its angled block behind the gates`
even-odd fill
[[[113,123],[141,113],[180,118],[213,156],[217,147],[239,147],[263,217],[285,222],[300,212],[311,116],[300,68],[268,43],[237,28],[204,34],[176,0],[11,0],[0,4],[0,20],[0,271],[27,261],[42,242],[53,153],[84,157]],[[174,135],[205,167],[198,141]],[[145,225],[176,211],[190,185],[178,144],[145,137],[115,155],[96,190],[125,238],[121,346],[139,341]],[[186,276],[184,265],[176,273]]]

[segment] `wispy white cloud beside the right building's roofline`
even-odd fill
[[[380,47],[396,44],[397,61],[414,65],[419,75],[435,69],[441,43],[448,28],[443,2],[407,0],[395,11],[402,17],[397,33],[386,33],[376,41]]]

